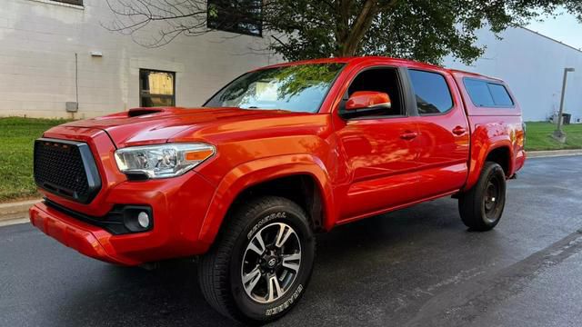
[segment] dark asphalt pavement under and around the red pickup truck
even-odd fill
[[[468,232],[441,199],[319,235],[282,326],[582,325],[582,156],[527,161],[502,221]],[[0,228],[0,326],[231,326],[196,263],[146,271],[85,258],[29,224]]]

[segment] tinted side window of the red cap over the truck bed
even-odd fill
[[[473,104],[482,107],[513,107],[514,103],[502,84],[487,82],[475,78],[463,79],[467,93]]]

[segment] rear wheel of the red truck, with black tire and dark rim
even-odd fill
[[[485,232],[499,223],[506,205],[506,175],[498,163],[486,162],[479,180],[458,200],[458,211],[470,230]]]

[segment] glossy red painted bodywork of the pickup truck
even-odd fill
[[[135,265],[205,253],[236,196],[279,177],[302,174],[316,182],[325,212],[323,227],[330,230],[339,223],[466,190],[476,183],[487,155],[497,148],[510,154],[507,177],[523,166],[525,135],[519,106],[487,109],[467,101],[464,76],[492,79],[382,57],[307,63],[328,62],[346,67],[317,114],[237,108],[135,109],[50,129],[45,137],[89,144],[103,187],[86,205],[44,192],[48,199],[94,216],[104,215],[119,203],[149,204],[155,228],[112,235],[43,203],[31,208],[31,222],[80,253]],[[373,66],[443,74],[453,97],[452,109],[426,116],[342,118],[338,106],[348,85],[356,74]],[[356,95],[361,98],[352,99],[358,105],[390,100],[377,92]],[[216,155],[175,178],[132,182],[117,169],[116,148],[170,142],[214,144]]]

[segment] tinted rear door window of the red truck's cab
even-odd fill
[[[418,70],[410,70],[409,74],[418,114],[441,114],[453,107],[453,98],[443,75]]]

